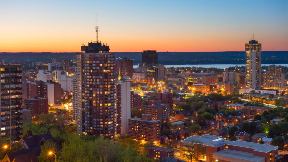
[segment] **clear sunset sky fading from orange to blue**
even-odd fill
[[[288,50],[288,1],[0,1],[0,52]]]

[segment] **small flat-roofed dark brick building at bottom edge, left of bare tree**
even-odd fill
[[[148,158],[162,160],[165,157],[174,158],[174,149],[159,146],[148,148]]]

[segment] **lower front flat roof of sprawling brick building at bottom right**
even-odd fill
[[[238,159],[237,161],[243,161],[243,160],[247,160],[247,161],[263,161],[263,159],[265,160],[265,158],[263,157],[259,157],[259,156],[254,156],[252,153],[247,153],[247,152],[241,152],[241,151],[235,151],[235,150],[229,150],[229,149],[224,149],[218,152],[214,152],[213,153],[213,158],[216,155],[216,157],[218,158],[218,160],[226,160],[228,159],[227,157],[232,157],[232,158],[236,158]],[[220,156],[217,156],[220,155]],[[221,159],[223,158],[223,159]]]

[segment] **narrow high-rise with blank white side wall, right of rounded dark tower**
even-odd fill
[[[130,82],[123,82],[122,80],[118,80],[116,83],[116,134],[122,136],[128,135],[128,119],[131,118],[130,87]]]

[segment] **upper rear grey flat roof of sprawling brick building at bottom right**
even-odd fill
[[[201,143],[203,145],[214,147],[214,145],[212,145],[213,140],[216,140],[219,138],[222,138],[222,137],[210,135],[210,134],[205,134],[202,136],[195,136],[194,135],[194,136],[190,136],[190,137],[185,138],[181,142]],[[264,145],[264,144],[260,144],[260,143],[245,142],[245,141],[240,141],[240,140],[236,140],[236,141],[223,140],[222,145],[225,145],[225,144],[244,147],[244,148],[251,148],[251,149],[254,149],[255,151],[258,151],[258,152],[270,152],[271,150],[278,149],[278,146]]]

